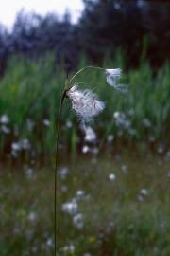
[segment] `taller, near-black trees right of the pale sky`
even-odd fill
[[[114,55],[122,46],[127,66],[139,63],[146,37],[146,56],[153,66],[170,57],[170,2],[149,0],[84,0],[79,39],[93,61]]]

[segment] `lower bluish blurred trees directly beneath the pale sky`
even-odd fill
[[[52,53],[58,64],[74,66],[79,54],[76,34],[76,26],[71,24],[69,15],[59,21],[54,14],[42,17],[20,12],[11,32],[0,28],[1,74],[8,57],[16,54],[36,60]]]

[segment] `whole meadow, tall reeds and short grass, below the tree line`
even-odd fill
[[[87,65],[82,59],[79,68]],[[59,137],[58,255],[170,255],[170,64],[76,78],[106,102],[84,134],[66,99]],[[13,57],[0,81],[0,256],[54,254],[56,119],[65,72]],[[92,138],[93,137],[93,138]]]

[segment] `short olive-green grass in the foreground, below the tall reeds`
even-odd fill
[[[1,256],[53,255],[54,168],[32,168],[1,167]],[[170,162],[161,157],[64,159],[59,167],[59,255],[168,256],[169,172]],[[76,211],[64,212],[63,204],[73,200]],[[83,219],[79,229],[73,223],[77,213]]]

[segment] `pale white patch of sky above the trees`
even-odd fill
[[[69,9],[72,14],[72,21],[76,22],[83,9],[83,3],[81,0],[5,0],[0,9],[0,24],[12,27],[15,16],[21,9],[42,15],[47,12],[62,15],[65,9]]]

